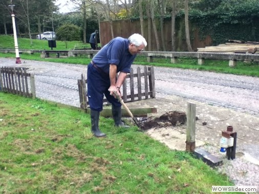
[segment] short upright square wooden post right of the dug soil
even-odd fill
[[[196,131],[196,104],[187,104],[187,129],[186,129],[186,151],[195,150],[195,131]]]

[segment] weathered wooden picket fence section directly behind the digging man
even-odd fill
[[[88,108],[87,87],[86,87],[87,80],[85,80],[85,77],[82,74],[81,80],[77,80],[77,81],[78,81],[80,107],[82,109],[87,109]],[[138,67],[136,74],[134,74],[133,68],[131,68],[130,74],[127,75],[126,79],[123,82],[121,94],[122,94],[121,98],[125,103],[139,101],[142,99],[155,98],[156,90],[155,90],[154,67],[144,66],[143,72],[141,72],[140,67]],[[103,99],[103,103],[107,104],[107,100],[105,98]]]

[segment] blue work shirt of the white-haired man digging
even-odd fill
[[[137,54],[128,51],[128,44],[128,39],[122,37],[112,39],[94,56],[93,62],[106,74],[109,74],[110,64],[117,65],[117,72],[129,73]]]

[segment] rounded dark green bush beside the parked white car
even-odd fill
[[[62,25],[57,29],[56,36],[62,41],[80,40],[80,28],[73,24]]]

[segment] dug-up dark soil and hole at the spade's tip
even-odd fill
[[[169,111],[160,117],[138,117],[140,128],[147,130],[151,128],[162,128],[178,126],[186,123],[186,114],[179,111]]]

